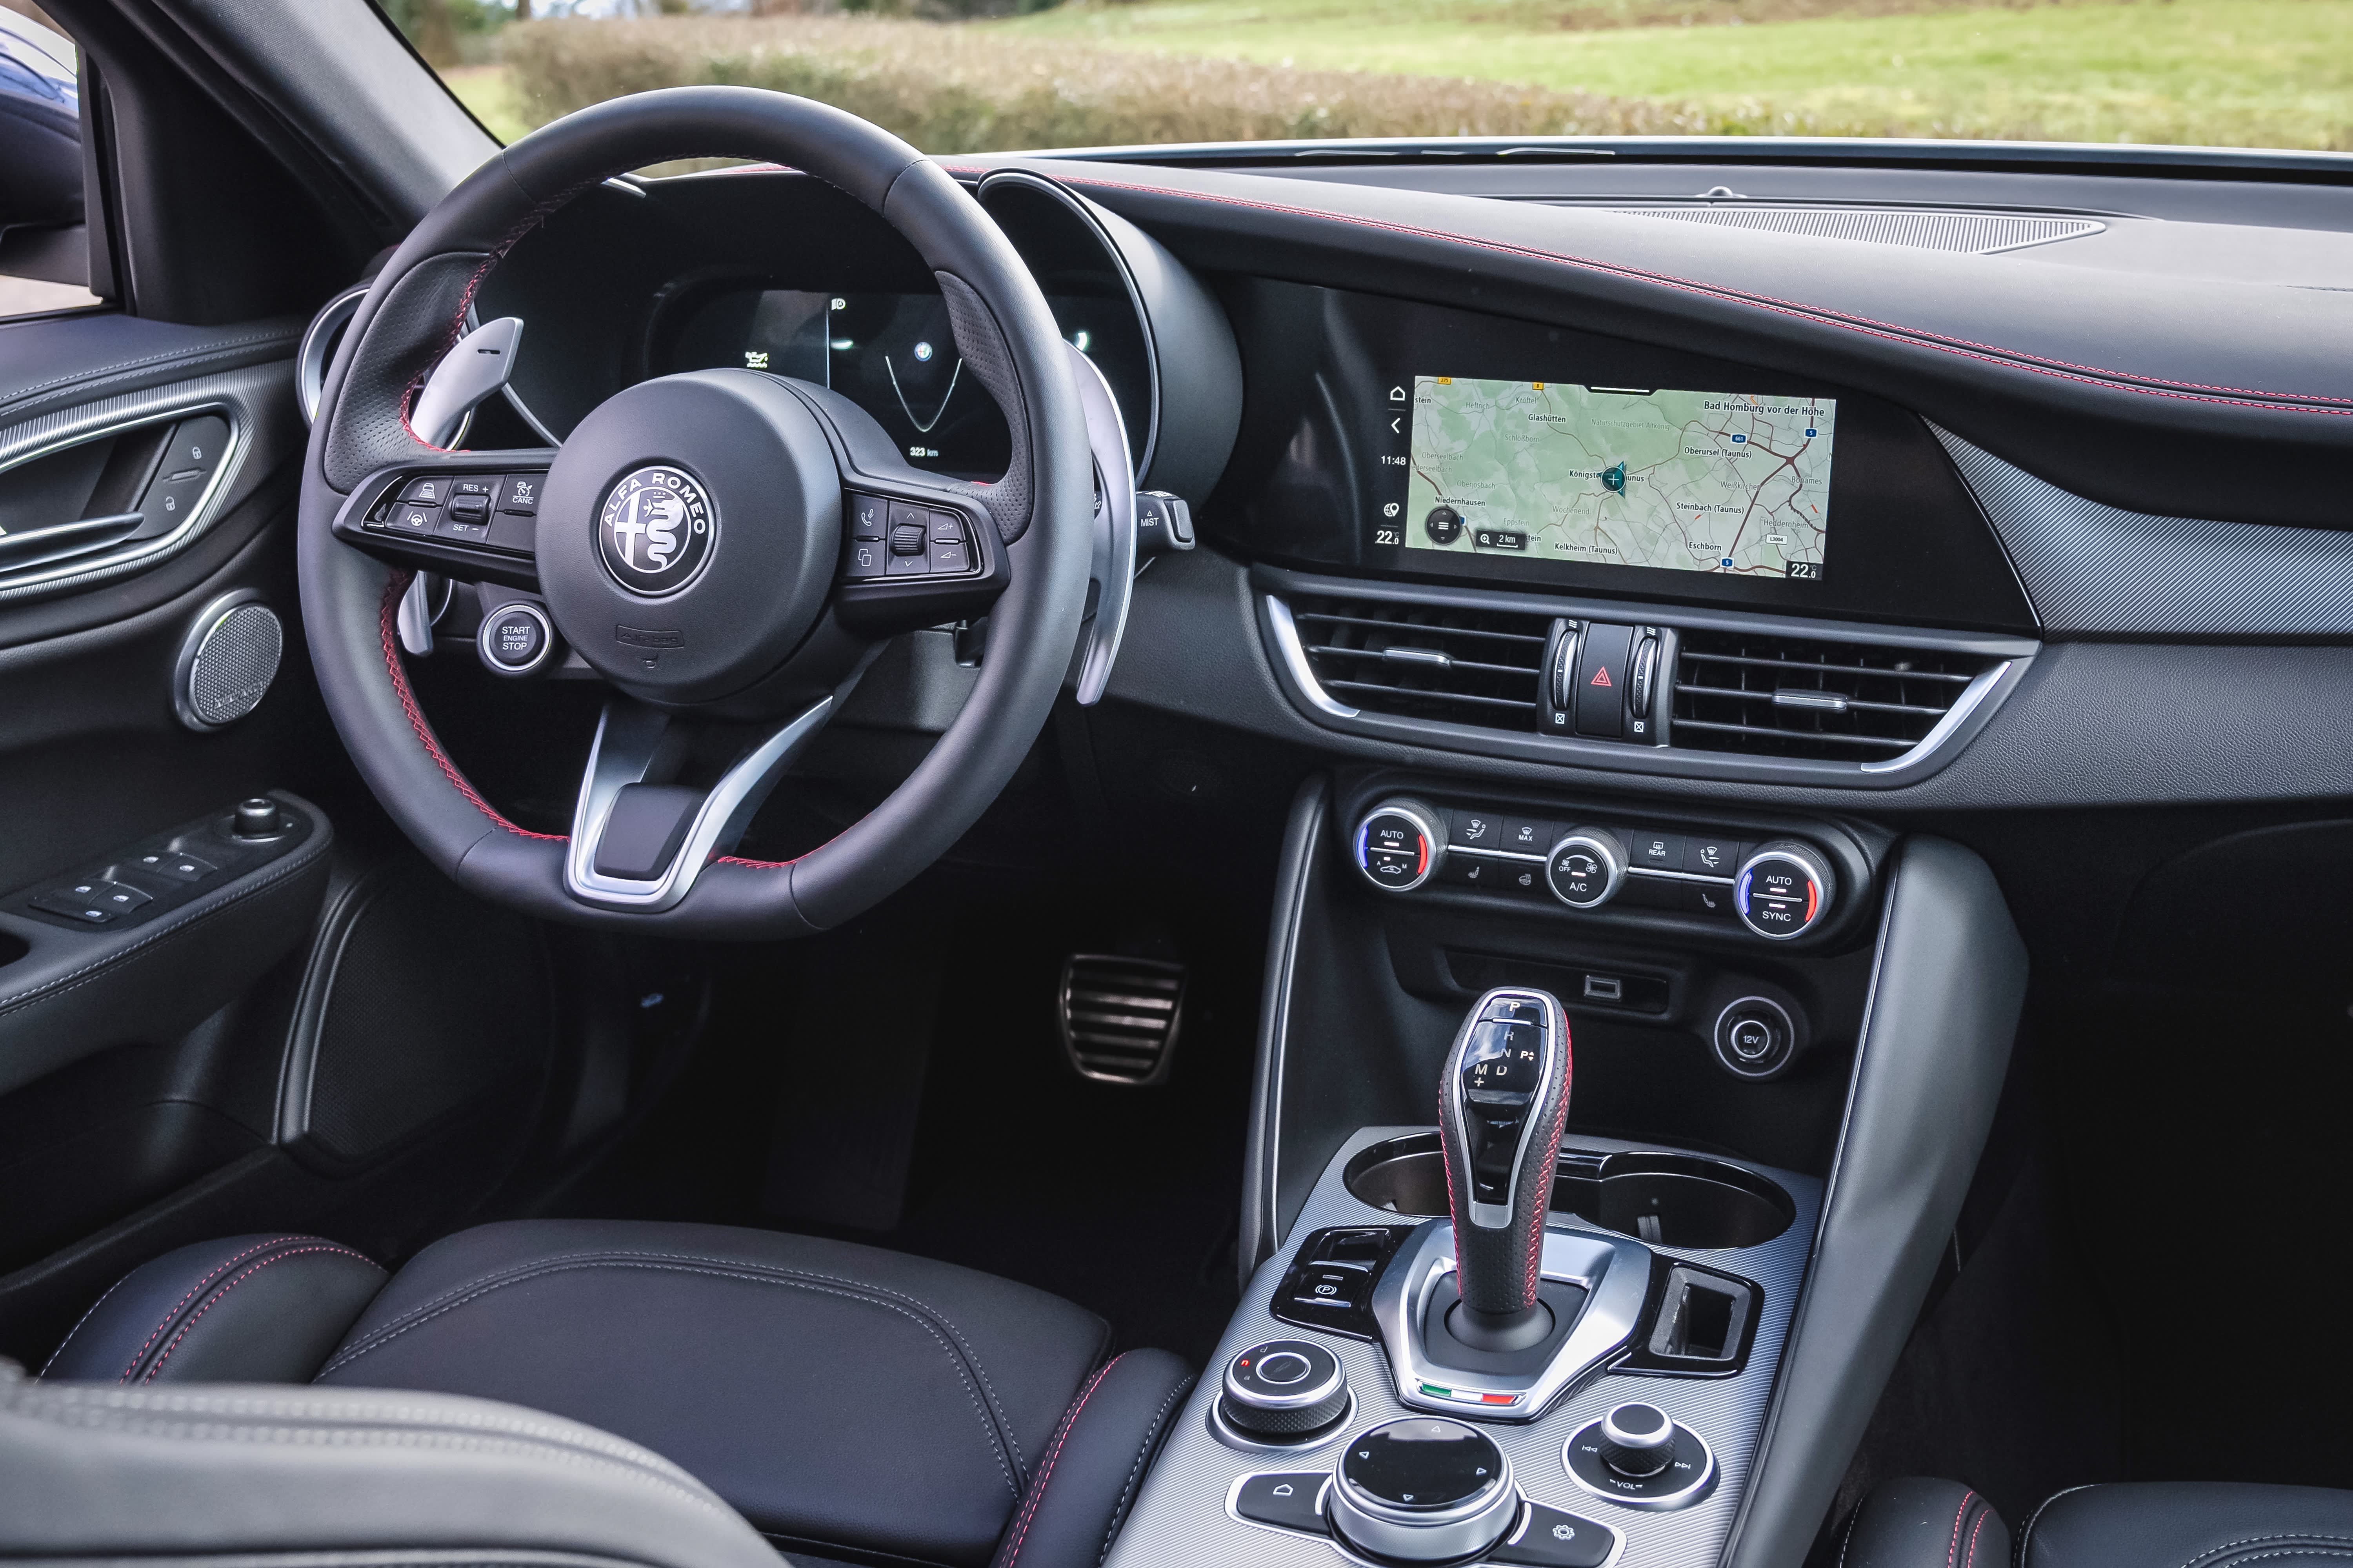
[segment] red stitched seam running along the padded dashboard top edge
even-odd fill
[[[1953,353],[1967,360],[1981,360],[1986,365],[2005,370],[2026,370],[2038,377],[2052,377],[2059,381],[2078,381],[2082,386],[2099,386],[2106,391],[2129,391],[2144,398],[2172,398],[2177,403],[2214,403],[2224,407],[2254,407],[2278,414],[2334,414],[2353,417],[2353,398],[2334,398],[2327,393],[2275,393],[2252,386],[2209,386],[2205,381],[2174,381],[2167,377],[2148,377],[2129,370],[2106,370],[2101,365],[2075,365],[2071,360],[2054,360],[2038,353],[2026,353],[2024,348],[2000,348],[1995,344],[1979,344],[1965,337],[1946,337],[1941,332],[1929,332],[1927,327],[1908,327],[1904,323],[1885,323],[1871,315],[1849,315],[1845,311],[1831,311],[1826,306],[1800,304],[1793,299],[1777,299],[1774,294],[1753,294],[1746,290],[1732,290],[1718,283],[1701,283],[1697,278],[1678,278],[1675,273],[1654,273],[1640,266],[1626,266],[1619,261],[1598,261],[1593,257],[1579,257],[1572,252],[1541,250],[1537,245],[1511,245],[1504,240],[1475,240],[1459,233],[1442,233],[1438,228],[1419,228],[1414,224],[1391,224],[1386,219],[1358,217],[1351,212],[1325,212],[1320,207],[1292,207],[1285,202],[1264,202],[1245,195],[1219,195],[1212,191],[1184,191],[1176,186],[1148,186],[1141,181],[1122,179],[1099,179],[1099,177],[1071,177],[1073,186],[1096,186],[1106,191],[1139,191],[1144,195],[1169,195],[1176,200],[1195,202],[1219,202],[1226,207],[1252,207],[1257,212],[1280,212],[1287,217],[1327,219],[1334,224],[1355,224],[1360,228],[1379,228],[1386,233],[1400,233],[1417,240],[1438,240],[1442,245],[1471,245],[1478,250],[1492,250],[1506,257],[1525,257],[1532,261],[1553,261],[1560,266],[1577,266],[1584,271],[1602,273],[1609,278],[1631,278],[1635,283],[1657,283],[1685,294],[1701,294],[1706,299],[1720,299],[1727,304],[1741,304],[1758,311],[1772,311],[1777,315],[1793,315],[1800,320],[1828,323],[1845,332],[1861,332],[1864,337],[1878,337],[1887,341],[1918,344],[1922,348],[1934,348],[1939,353]],[[2179,386],[2184,391],[2160,391],[2167,386]],[[2207,393],[2238,393],[2231,398],[2217,398]],[[2247,398],[2268,398],[2268,403],[2247,403]],[[2299,400],[2306,407],[2287,407],[2287,400]],[[2311,407],[2320,405],[2320,407]]]

